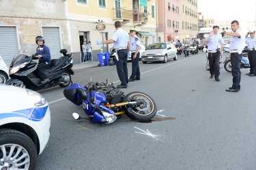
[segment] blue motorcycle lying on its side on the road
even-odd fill
[[[86,119],[93,123],[110,124],[115,122],[117,116],[126,114],[132,120],[148,122],[157,112],[154,100],[143,92],[124,92],[103,82],[89,82],[84,87],[73,84],[63,90],[63,95],[75,105],[82,105]],[[77,120],[81,116],[73,113]]]

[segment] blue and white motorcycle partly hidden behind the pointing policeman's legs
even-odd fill
[[[231,73],[231,59],[229,57],[226,57],[226,60],[224,61],[224,69]],[[250,63],[248,61],[248,53],[242,52],[242,60],[240,61],[240,68],[241,69],[247,69],[250,68]]]

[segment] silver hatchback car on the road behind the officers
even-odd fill
[[[154,43],[147,46],[145,52],[142,53],[141,60],[143,64],[156,61],[167,63],[167,60],[171,58],[176,61],[176,52],[175,45],[170,42]]]

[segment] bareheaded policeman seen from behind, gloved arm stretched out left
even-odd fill
[[[114,48],[117,50],[117,75],[121,82],[121,84],[117,85],[117,88],[127,88],[127,56],[128,52],[130,51],[130,39],[128,33],[121,28],[121,22],[115,21],[115,29],[116,31],[114,32],[112,39],[108,39],[106,41],[96,41],[96,44],[114,44]]]

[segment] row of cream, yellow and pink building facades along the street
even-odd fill
[[[81,44],[91,41],[97,53],[109,52],[113,44],[96,45],[111,39],[114,22],[127,31],[134,27],[145,46],[157,41],[183,41],[197,35],[197,0],[1,0],[0,55],[10,65],[25,45],[42,35],[52,58],[59,50],[73,53],[81,63]]]

